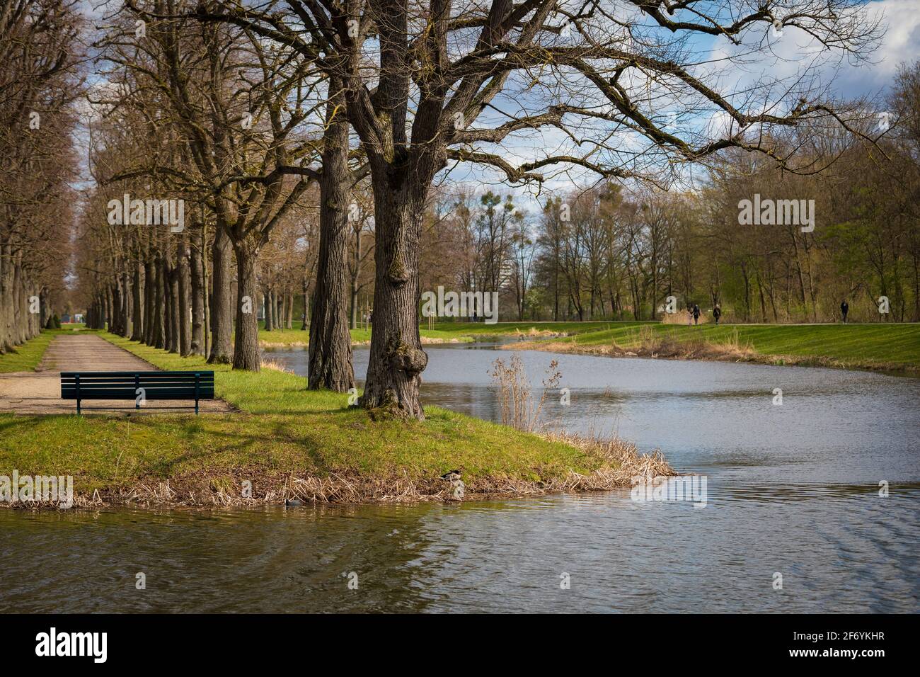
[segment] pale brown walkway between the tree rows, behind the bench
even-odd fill
[[[0,374],[0,413],[15,414],[75,414],[76,401],[61,399],[62,371],[158,371],[117,345],[110,344],[93,334],[55,336],[45,351],[35,371],[17,371]],[[130,401],[84,401],[88,407],[132,407]],[[170,406],[193,406],[189,402],[147,402],[141,410],[162,409]],[[223,400],[201,400],[201,412],[230,412]],[[86,414],[136,414],[130,410]],[[189,413],[177,411],[177,413]]]

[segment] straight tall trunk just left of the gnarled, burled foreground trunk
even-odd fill
[[[332,87],[330,85],[330,87]],[[338,90],[338,87],[333,89]],[[354,388],[348,327],[348,134],[337,99],[327,106],[323,174],[319,182],[319,256],[310,316],[310,390]],[[413,301],[414,303],[414,301]]]

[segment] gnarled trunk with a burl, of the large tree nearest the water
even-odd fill
[[[413,178],[405,169],[391,167],[387,173],[386,181],[374,176],[374,319],[361,403],[374,417],[424,419],[419,387],[428,355],[421,349],[418,305],[424,194],[408,199]]]

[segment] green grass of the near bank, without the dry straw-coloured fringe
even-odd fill
[[[205,367],[101,334],[164,369]],[[305,391],[305,379],[263,370],[214,368],[217,393],[236,414],[14,416],[0,414],[0,474],[72,474],[78,491],[132,486],[167,478],[252,478],[359,472],[412,479],[458,465],[465,479],[508,476],[549,480],[569,470],[588,473],[599,461],[549,442],[436,407],[424,423],[374,423],[347,395]]]

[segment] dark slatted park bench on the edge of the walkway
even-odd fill
[[[61,399],[76,400],[76,413],[83,409],[130,409],[131,407],[82,407],[83,400],[133,400],[140,409],[144,400],[214,399],[213,371],[66,371],[61,372]],[[169,407],[191,409],[191,407]]]

